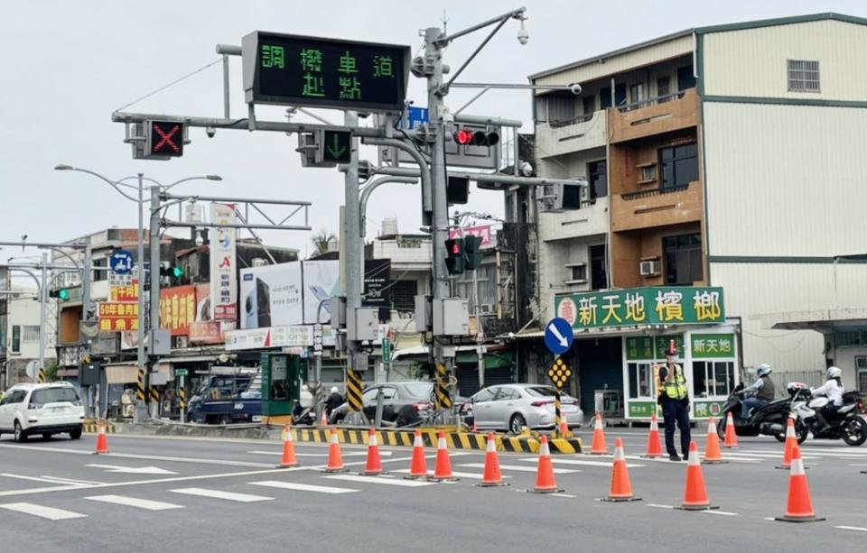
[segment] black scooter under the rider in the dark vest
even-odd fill
[[[779,398],[757,407],[750,412],[748,419],[743,419],[741,417],[743,384],[738,384],[722,406],[718,431],[720,434],[725,434],[725,427],[728,424],[727,415],[731,412],[734,421],[734,433],[738,436],[764,435],[773,436],[781,442],[786,441],[786,420],[792,410],[792,400],[800,386],[797,382],[789,383],[787,387],[788,398]],[[800,420],[797,420],[795,434],[797,443],[800,444],[806,439],[809,429]]]

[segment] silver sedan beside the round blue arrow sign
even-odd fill
[[[501,384],[476,392],[461,406],[468,425],[477,429],[508,430],[519,434],[521,429],[554,429],[555,395],[553,386],[544,384]],[[570,429],[581,427],[584,413],[578,400],[562,394],[561,412]]]

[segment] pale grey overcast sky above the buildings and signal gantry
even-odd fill
[[[5,0],[0,3],[0,240],[26,234],[31,241],[61,241],[108,226],[135,227],[135,203],[88,175],[52,171],[61,162],[113,180],[143,171],[165,184],[217,173],[224,179],[220,183],[191,182],[176,190],[309,200],[313,230],[336,232],[342,174],[302,169],[294,136],[223,130],[209,139],[203,129],[191,129],[192,143],[181,159],[134,161],[123,143],[124,126],[110,121],[111,112],[217,60],[215,44],[240,44],[241,37],[254,30],[407,44],[415,52],[422,44],[418,30],[441,25],[443,13],[449,30],[457,31],[519,5],[467,0]],[[517,22],[508,23],[462,81],[524,83],[527,75],[542,69],[700,25],[828,11],[867,16],[867,5],[857,0],[527,0],[526,5],[529,43],[520,46]],[[446,51],[446,62],[457,68],[483,36],[456,41]],[[240,59],[232,58],[232,115],[237,117],[246,115],[240,70]],[[424,81],[411,81],[409,97],[424,106]],[[456,109],[472,94],[455,89],[447,102]],[[127,110],[221,116],[220,66]],[[527,91],[489,92],[468,113],[520,119],[525,122],[522,132],[533,130]],[[259,108],[257,115],[281,120],[282,109]],[[336,122],[342,118],[339,112],[325,115]],[[417,188],[387,185],[372,198],[368,239],[377,235],[385,217],[397,217],[402,232],[417,232]],[[472,190],[469,207],[500,214],[501,194]],[[271,232],[266,241],[305,254],[311,235]],[[13,254],[21,250],[5,248],[0,263]]]

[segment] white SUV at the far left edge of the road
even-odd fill
[[[0,433],[14,434],[17,442],[33,434],[79,439],[83,424],[84,407],[69,382],[15,384],[0,400]]]

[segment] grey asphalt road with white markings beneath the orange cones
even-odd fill
[[[671,509],[685,463],[640,458],[646,429],[624,438],[640,502],[609,503],[611,456],[556,456],[564,493],[526,493],[536,457],[500,454],[510,484],[480,488],[483,452],[452,452],[454,483],[409,481],[410,451],[383,448],[390,475],[326,475],[326,447],[296,444],[302,467],[276,469],[280,444],[263,440],[109,436],[111,453],[79,441],[0,438],[0,539],[4,551],[769,551],[854,550],[867,532],[867,447],[802,447],[813,504],[827,521],[769,521],[785,511],[782,445],[741,438],[725,465],[704,465],[712,512]],[[694,435],[698,431],[694,431]],[[589,444],[585,434],[585,443]],[[704,437],[697,440],[704,447]],[[433,470],[435,451],[429,449]],[[350,471],[363,447],[343,447]]]

